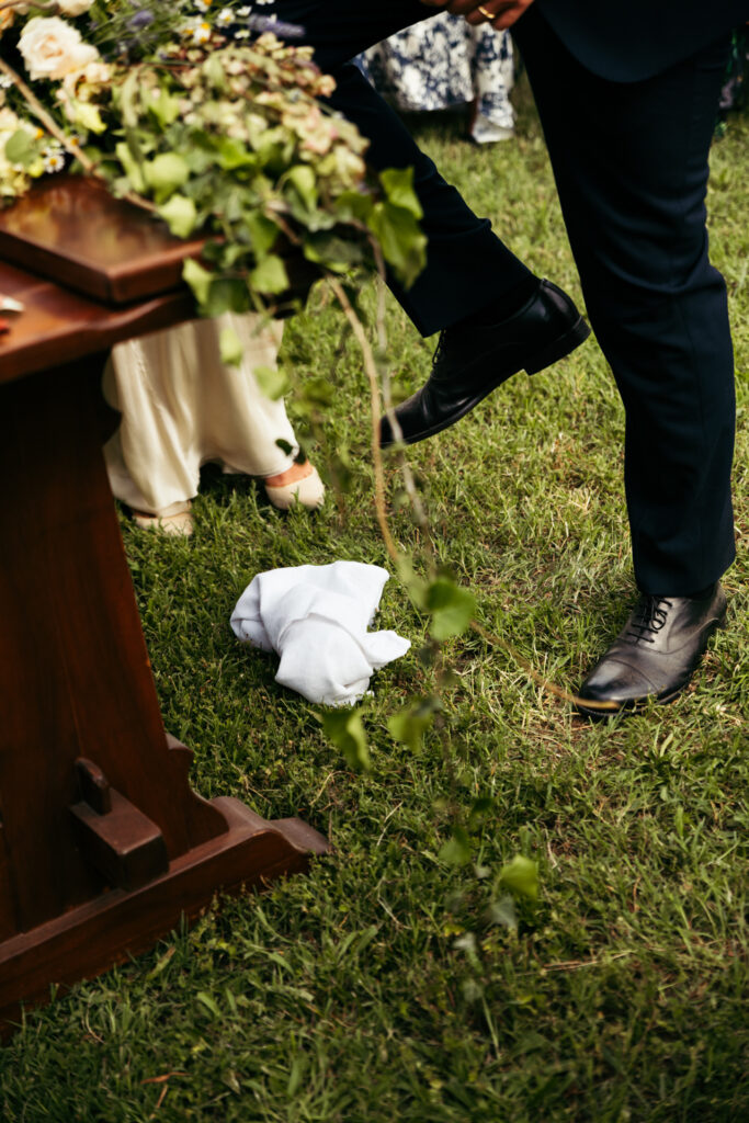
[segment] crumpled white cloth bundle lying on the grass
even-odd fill
[[[276,682],[310,702],[353,705],[374,670],[411,641],[368,632],[390,574],[362,562],[301,565],[253,577],[231,613],[243,641],[281,656]]]

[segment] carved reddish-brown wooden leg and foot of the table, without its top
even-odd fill
[[[107,482],[101,366],[0,386],[0,1020],[327,849],[189,786]]]

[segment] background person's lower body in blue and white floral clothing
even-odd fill
[[[462,16],[440,12],[371,47],[356,62],[395,109],[469,106],[468,135],[476,144],[513,135],[508,31],[495,31],[490,24],[472,27]]]

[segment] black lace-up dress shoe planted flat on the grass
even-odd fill
[[[624,628],[579,688],[577,709],[611,716],[649,699],[670,702],[684,690],[707,640],[725,620],[725,593],[716,584],[694,596],[642,596]],[[585,701],[610,707],[587,709]]]

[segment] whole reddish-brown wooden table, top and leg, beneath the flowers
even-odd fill
[[[199,245],[83,181],[52,182],[0,213],[0,293],[25,305],[0,336],[6,1030],[51,984],[95,975],[217,891],[304,869],[327,849],[301,820],[267,822],[191,789],[192,752],[164,730],[107,481],[108,349],[193,314],[180,271]]]

